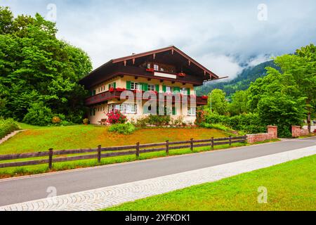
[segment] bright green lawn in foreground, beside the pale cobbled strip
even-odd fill
[[[316,155],[107,210],[316,210]],[[258,203],[258,187],[268,203]]]

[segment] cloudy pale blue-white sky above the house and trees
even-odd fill
[[[15,15],[38,12],[50,20],[56,15],[58,38],[84,49],[94,68],[175,45],[221,77],[234,77],[246,65],[316,44],[315,0],[0,0],[0,5]]]

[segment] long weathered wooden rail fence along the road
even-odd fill
[[[179,150],[183,148],[190,148],[190,150],[194,150],[194,148],[209,146],[211,150],[213,150],[214,146],[220,146],[232,143],[244,143],[246,141],[246,136],[237,136],[237,137],[229,137],[229,138],[220,138],[220,139],[205,139],[205,140],[194,140],[190,139],[190,141],[176,141],[169,142],[166,141],[164,143],[149,143],[149,144],[140,144],[136,143],[134,146],[119,146],[119,147],[107,147],[102,148],[102,146],[98,146],[98,148],[89,148],[89,149],[74,149],[74,150],[55,150],[53,148],[49,149],[47,152],[39,152],[39,153],[21,153],[14,155],[0,155],[0,162],[6,160],[20,160],[27,158],[44,158],[43,160],[29,160],[26,162],[7,162],[0,163],[0,168],[6,167],[22,167],[29,165],[41,165],[48,164],[48,167],[52,169],[53,162],[69,162],[75,160],[91,160],[98,159],[98,162],[101,162],[102,158],[109,158],[114,156],[122,156],[122,155],[136,155],[136,158],[139,157],[141,153],[153,153],[159,151],[166,151],[166,155],[169,155],[169,150]],[[157,148],[160,147],[160,148]],[[89,154],[88,153],[95,153]],[[79,155],[85,154],[85,155]],[[63,157],[63,155],[76,155],[71,157]],[[53,158],[53,156],[60,156],[60,158]]]

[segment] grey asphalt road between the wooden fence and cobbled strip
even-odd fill
[[[0,206],[46,198],[48,187],[55,187],[58,195],[65,195],[258,158],[309,146],[316,148],[316,138],[9,179],[0,181]]]

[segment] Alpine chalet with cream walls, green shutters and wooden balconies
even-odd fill
[[[170,46],[110,60],[79,83],[90,93],[85,104],[91,124],[106,119],[113,110],[121,111],[129,120],[155,111],[157,115],[182,117],[184,122],[193,123],[197,106],[207,104],[206,96],[196,96],[195,86],[214,79],[218,76]],[[158,105],[165,110],[159,110]]]

